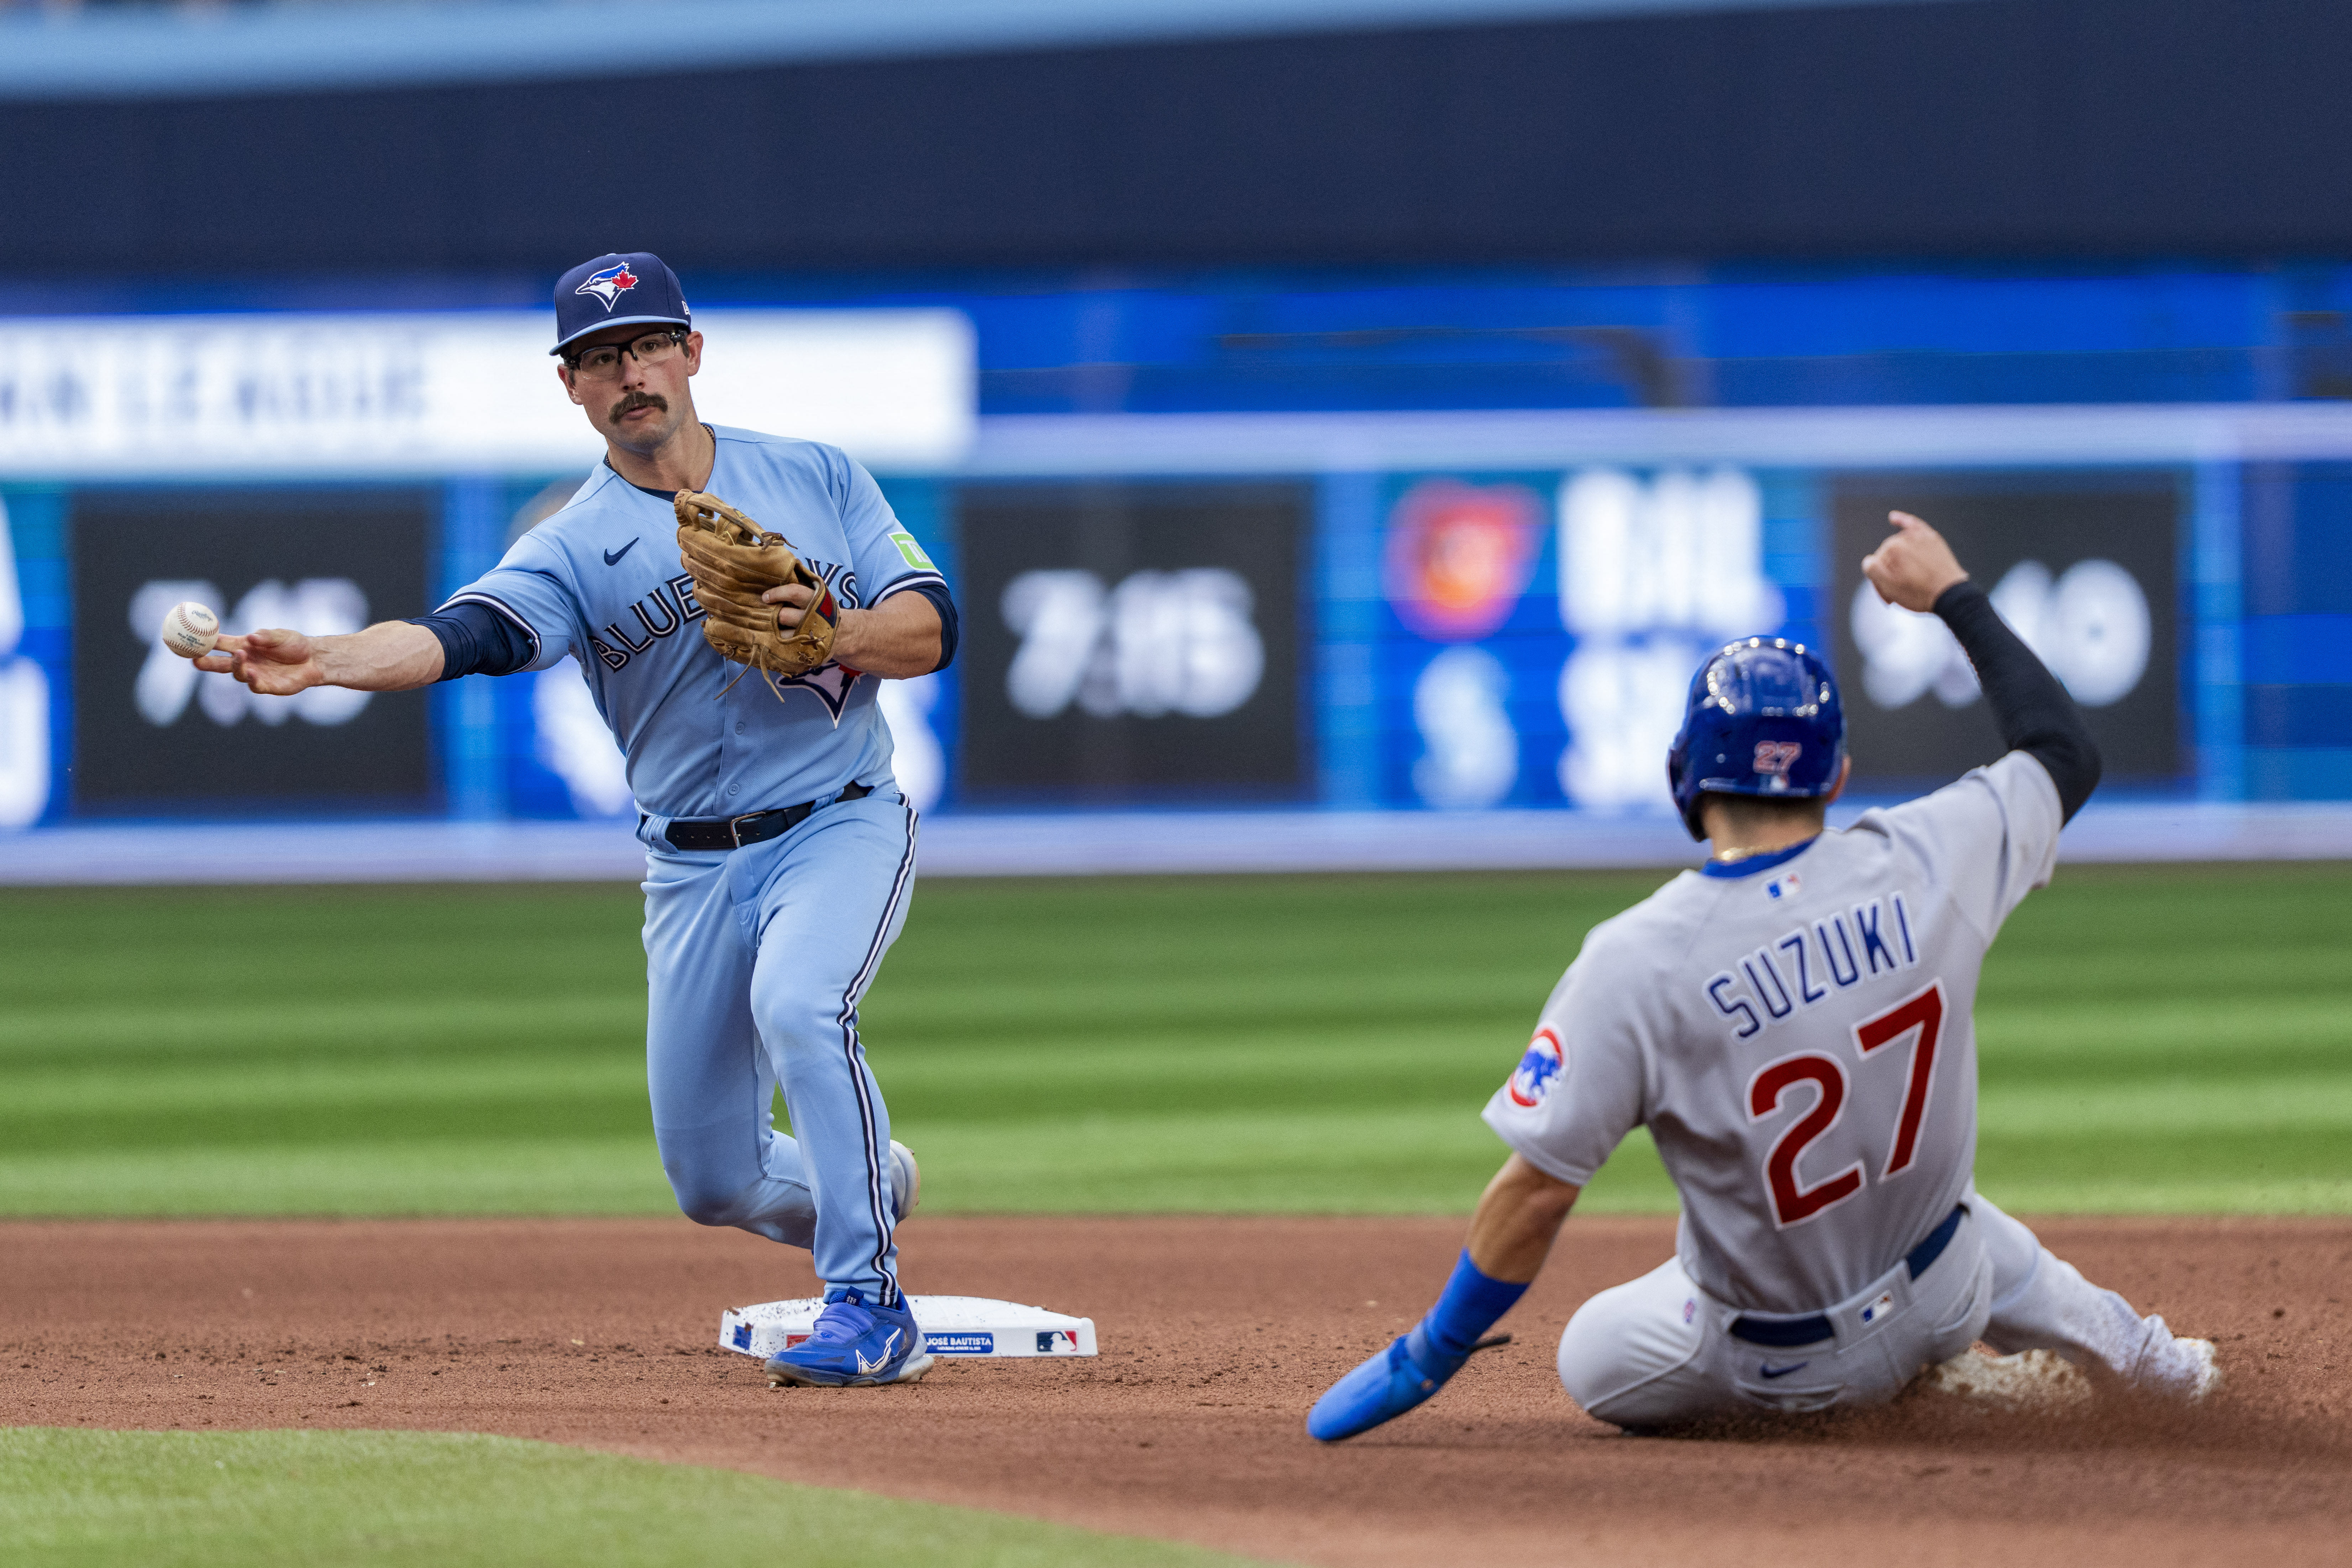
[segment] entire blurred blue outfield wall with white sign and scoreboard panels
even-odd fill
[[[706,414],[861,454],[957,588],[955,668],[882,686],[936,870],[1672,863],[1661,757],[1733,635],[1830,654],[1858,797],[1933,788],[1997,738],[1943,628],[1858,578],[1891,505],[2084,703],[2086,825],[2122,816],[2077,853],[2345,853],[2352,402],[2284,310],[2310,277],[1277,284],[706,313]],[[595,461],[534,322],[0,322],[0,820],[33,832],[0,877],[209,877],[230,839],[146,830],[355,820],[527,872],[557,839],[475,830],[628,825],[569,665],[280,701],[153,644],[181,597],[343,630],[496,562]]]

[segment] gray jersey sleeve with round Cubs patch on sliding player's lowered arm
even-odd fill
[[[1649,1119],[1637,985],[1595,931],[1552,987],[1526,1053],[1486,1100],[1486,1126],[1545,1175],[1583,1187]]]

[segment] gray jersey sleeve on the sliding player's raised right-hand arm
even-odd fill
[[[1985,940],[2027,893],[2049,886],[2063,825],[2058,785],[2032,752],[2009,752],[1886,813],[1896,842],[1926,863],[1931,886],[1950,889]]]

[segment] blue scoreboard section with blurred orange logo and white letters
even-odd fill
[[[1668,811],[1665,750],[1705,651],[1802,635],[1766,574],[1769,510],[1759,475],[1729,465],[1392,480],[1381,799]]]

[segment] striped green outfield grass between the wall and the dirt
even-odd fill
[[[1656,875],[931,882],[866,1006],[927,1211],[1465,1211]],[[663,1213],[635,889],[0,896],[0,1211]],[[1978,1004],[1980,1185],[2352,1211],[2352,867],[2070,870]],[[1670,1208],[1630,1143],[1592,1208]]]

